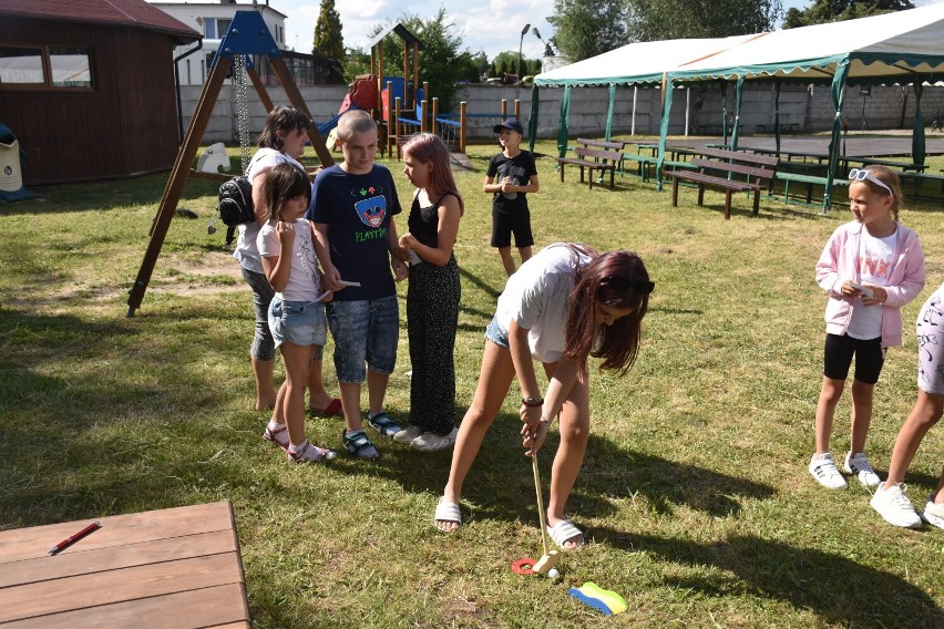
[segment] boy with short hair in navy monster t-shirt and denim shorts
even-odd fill
[[[315,178],[305,217],[315,224],[325,289],[337,291],[326,314],[335,340],[345,447],[358,458],[377,458],[380,453],[363,432],[360,390],[366,377],[367,421],[382,436],[392,437],[401,429],[383,410],[383,396],[397,362],[400,331],[393,281],[407,277],[406,252],[393,223],[401,209],[390,171],[373,163],[373,118],[365,111],[346,113],[338,122],[338,140],[345,161]],[[388,264],[393,277],[383,270]]]

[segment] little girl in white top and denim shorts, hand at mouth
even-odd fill
[[[266,177],[265,200],[266,207],[273,209],[256,246],[266,277],[276,290],[268,318],[285,363],[281,408],[277,411],[281,411],[287,425],[270,420],[264,437],[285,447],[288,460],[296,463],[331,460],[334,452],[311,445],[305,437],[305,386],[316,348],[324,347],[327,340],[322,299],[330,296],[320,293],[314,227],[301,218],[311,200],[305,171],[291,164],[274,166]]]

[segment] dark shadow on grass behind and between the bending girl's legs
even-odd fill
[[[464,409],[456,406],[456,416]],[[391,413],[394,420],[407,416]],[[475,505],[475,517],[509,522],[534,518],[534,477],[531,460],[521,446],[521,421],[509,413],[500,415],[482,444],[482,450],[468,476],[463,499]],[[383,451],[377,467],[355,463],[351,473],[376,474],[381,471],[404,491],[440,495],[449,477],[452,450],[437,453],[412,452],[406,446],[376,442]],[[551,481],[551,464],[560,437],[552,431],[538,455],[545,495]],[[645,497],[660,514],[671,513],[675,505],[687,505],[712,517],[741,512],[739,498],[763,499],[774,489],[761,483],[712,472],[695,465],[677,463],[627,451],[606,437],[591,434],[584,465],[567,503],[570,513],[604,518],[616,507],[610,502],[626,497]]]

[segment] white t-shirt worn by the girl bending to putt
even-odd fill
[[[578,261],[577,261],[578,260]],[[587,256],[564,245],[551,245],[524,262],[509,278],[499,296],[495,316],[507,330],[511,322],[527,329],[531,355],[542,362],[557,362],[564,353],[567,305],[574,291],[577,265]]]

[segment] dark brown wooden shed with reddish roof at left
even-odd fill
[[[24,183],[171,168],[173,50],[199,39],[144,0],[0,0],[0,123]]]

